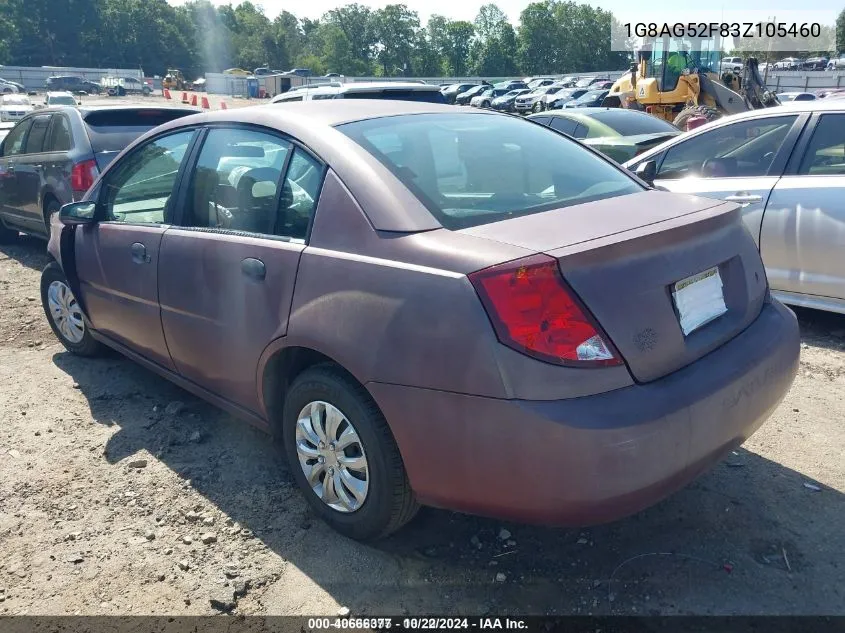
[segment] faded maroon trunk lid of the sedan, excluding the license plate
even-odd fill
[[[555,257],[639,382],[732,339],[766,297],[765,271],[739,207],[716,200],[648,191],[462,232]],[[684,335],[674,284],[712,267],[727,312]]]

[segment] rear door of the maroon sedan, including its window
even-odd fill
[[[263,129],[215,127],[164,235],[164,333],[182,376],[252,412],[266,346],[287,331],[324,168]]]

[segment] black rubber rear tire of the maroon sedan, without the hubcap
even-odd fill
[[[315,455],[311,460],[313,465],[302,463],[303,459],[308,459],[308,453],[305,451],[309,450],[310,444],[314,442],[309,443],[304,439],[301,431],[298,437],[297,430],[304,428],[307,431],[313,427],[310,422],[313,418],[306,413],[311,410],[312,404],[322,407],[322,413],[319,413],[320,408],[317,407],[318,426],[321,415],[326,421],[323,422],[323,433],[317,432],[315,435],[318,438],[325,436],[325,450],[334,446],[334,438],[328,431],[327,424],[329,407],[339,412],[344,420],[337,427],[344,429],[338,437],[346,435],[350,428],[351,433],[357,435],[356,445],[359,445],[366,473],[364,497],[357,508],[335,509],[328,501],[323,501],[318,496],[320,493],[316,487],[324,489],[322,482],[329,479],[331,466],[337,468],[333,481],[342,479],[340,460],[331,455],[317,457],[317,451],[311,448]],[[299,424],[301,415],[306,420],[304,427]],[[285,397],[282,437],[291,472],[305,495],[306,502],[326,523],[344,536],[361,541],[383,538],[405,525],[416,514],[419,506],[387,421],[367,391],[338,367],[318,365],[296,377]],[[341,455],[341,458],[344,457],[346,456]],[[323,461],[318,462],[321,458]],[[322,471],[319,471],[319,468],[322,468]],[[318,471],[316,476],[312,476],[312,483],[306,478],[306,469]],[[360,469],[356,472],[360,472]],[[344,492],[349,496],[346,489]]]

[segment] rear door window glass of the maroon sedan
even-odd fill
[[[304,240],[322,180],[322,165],[285,139],[213,129],[200,151],[187,223]]]

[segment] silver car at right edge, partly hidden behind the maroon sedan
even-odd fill
[[[738,202],[772,293],[845,314],[845,100],[719,119],[625,166],[669,191]]]

